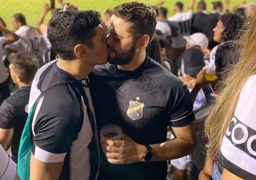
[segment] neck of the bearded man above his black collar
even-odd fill
[[[129,64],[117,65],[117,68],[124,71],[135,71],[138,69],[145,61],[146,52],[145,50],[135,54],[132,61]]]

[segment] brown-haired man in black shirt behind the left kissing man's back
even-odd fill
[[[10,54],[10,73],[19,90],[0,106],[0,144],[9,149],[11,158],[17,163],[21,134],[28,116],[28,100],[32,80],[39,68],[38,60],[31,52]]]

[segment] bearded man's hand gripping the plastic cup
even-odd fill
[[[106,159],[111,164],[131,164],[143,162],[147,152],[145,145],[136,143],[129,136],[122,134],[122,140],[102,139],[100,141]]]

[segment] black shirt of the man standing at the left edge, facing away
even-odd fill
[[[14,128],[12,136],[12,159],[17,163],[21,134],[27,119],[30,86],[23,86],[0,106],[0,128]]]

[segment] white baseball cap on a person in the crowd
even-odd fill
[[[199,45],[200,47],[208,47],[209,40],[203,33],[194,33],[190,36],[183,36],[187,43],[192,45]]]

